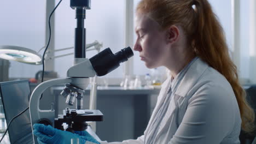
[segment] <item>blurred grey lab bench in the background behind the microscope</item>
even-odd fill
[[[44,92],[40,102],[40,109],[50,109],[50,103],[55,103],[55,110],[62,113],[66,107],[75,109],[75,106],[66,105],[66,98],[60,93],[64,86],[55,86]],[[33,89],[33,87],[32,87]],[[125,89],[123,87],[98,87],[97,110],[103,113],[103,121],[96,122],[96,134],[101,140],[108,142],[137,139],[147,127],[150,115],[156,104],[160,89]],[[84,93],[84,108],[89,109],[90,89]]]

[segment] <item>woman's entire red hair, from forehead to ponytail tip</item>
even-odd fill
[[[207,0],[142,0],[137,12],[149,14],[162,29],[171,25],[183,28],[188,46],[229,81],[236,95],[242,129],[253,131],[254,111],[246,101],[246,93],[238,82],[236,65],[231,61],[225,35]]]

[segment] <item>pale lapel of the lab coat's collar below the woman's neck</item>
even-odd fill
[[[180,97],[185,97],[203,74],[203,71],[205,71],[208,67],[208,64],[203,62],[200,58],[195,59],[195,61],[191,63],[190,67],[185,72],[185,75],[174,94],[177,94]]]

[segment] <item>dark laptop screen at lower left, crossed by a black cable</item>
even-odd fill
[[[29,106],[30,94],[28,80],[0,82],[0,96],[7,124]],[[11,122],[8,133],[10,143],[33,143],[29,110]]]

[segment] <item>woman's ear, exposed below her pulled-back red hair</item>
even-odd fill
[[[167,29],[167,43],[175,43],[179,38],[179,28],[175,25],[168,27]]]

